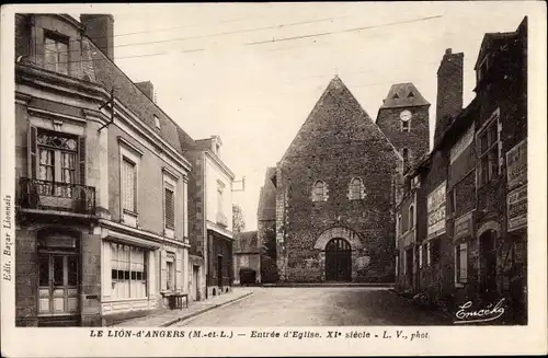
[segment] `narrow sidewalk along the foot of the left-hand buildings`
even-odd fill
[[[187,309],[182,310],[162,310],[160,312],[124,321],[113,325],[114,327],[167,327],[176,322],[187,320],[206,311],[229,304],[246,297],[253,295],[252,289],[248,288],[232,288],[230,293],[225,293],[212,297],[204,301],[189,302]]]

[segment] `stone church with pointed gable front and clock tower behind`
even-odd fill
[[[429,107],[412,83],[395,84],[374,122],[331,80],[260,203],[275,208],[281,281],[393,281],[398,177],[429,151]]]

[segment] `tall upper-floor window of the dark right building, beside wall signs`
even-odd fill
[[[499,175],[499,120],[498,116],[478,135],[479,185]]]

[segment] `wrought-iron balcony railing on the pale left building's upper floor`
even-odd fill
[[[20,180],[20,199],[23,209],[95,213],[95,188],[80,184]]]

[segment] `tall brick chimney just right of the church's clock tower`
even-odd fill
[[[453,54],[450,48],[437,70],[437,108],[434,131],[434,145],[439,135],[453,123],[463,111],[463,60],[465,54]]]

